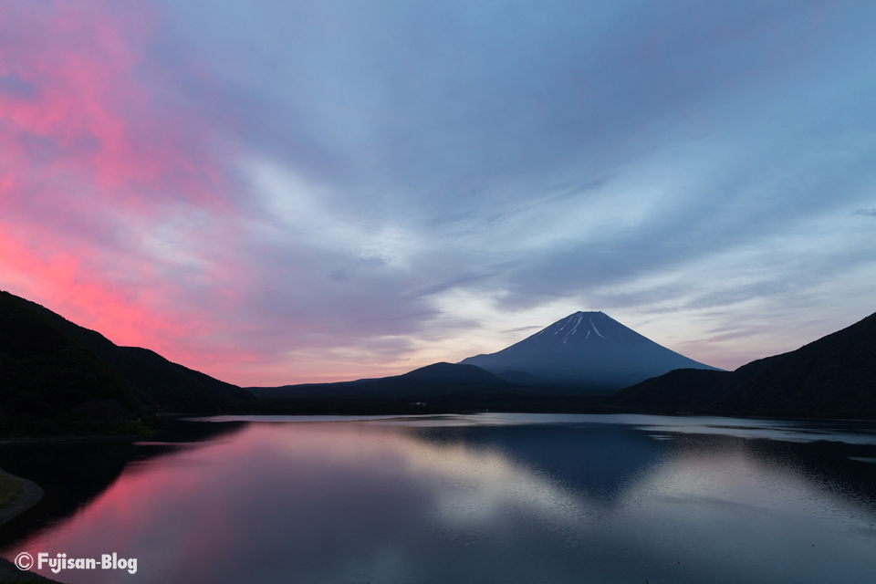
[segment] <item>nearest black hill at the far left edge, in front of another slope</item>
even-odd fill
[[[136,421],[138,412],[133,391],[98,355],[20,298],[0,292],[4,433],[80,433],[91,422]]]

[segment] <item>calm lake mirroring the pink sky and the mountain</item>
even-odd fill
[[[137,558],[71,583],[876,582],[876,424],[224,417],[0,466],[47,488],[5,558]]]

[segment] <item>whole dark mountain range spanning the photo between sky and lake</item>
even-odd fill
[[[507,349],[459,364],[435,363],[380,379],[242,389],[149,349],[116,346],[47,308],[3,292],[0,366],[0,420],[7,434],[18,432],[14,427],[22,421],[118,425],[159,408],[188,413],[505,410],[876,417],[876,315],[733,372],[687,359],[601,312],[577,312]],[[621,387],[626,389],[618,391]]]

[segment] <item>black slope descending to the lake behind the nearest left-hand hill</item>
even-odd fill
[[[252,394],[236,385],[173,363],[150,349],[119,347],[99,332],[80,327],[48,308],[11,294],[8,297],[42,315],[93,351],[128,382],[145,408],[170,412],[224,412],[254,401]]]

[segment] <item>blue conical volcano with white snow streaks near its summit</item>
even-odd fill
[[[499,376],[522,371],[534,376],[530,382],[541,384],[614,388],[676,369],[716,370],[642,337],[602,312],[576,312],[506,349],[461,363]]]

